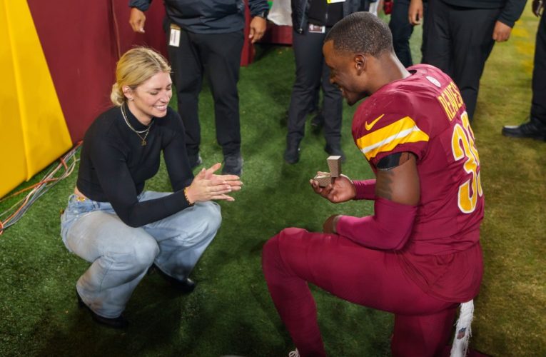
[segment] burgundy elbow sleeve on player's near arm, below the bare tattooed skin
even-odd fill
[[[374,209],[373,216],[342,216],[335,227],[336,231],[340,236],[368,248],[383,250],[403,248],[410,238],[417,206],[377,198]]]

